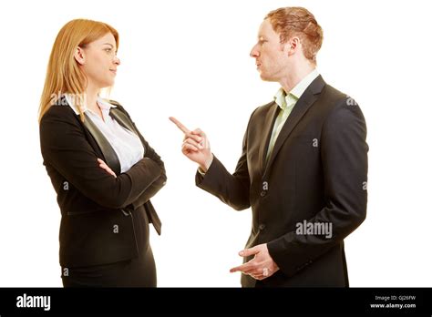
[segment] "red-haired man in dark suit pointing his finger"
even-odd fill
[[[252,207],[243,287],[347,287],[344,239],[366,214],[366,127],[353,99],[327,85],[316,54],[323,31],[303,7],[272,11],[251,56],[274,100],[253,111],[231,175],[200,129],[182,152],[199,164],[196,183],[235,210]]]

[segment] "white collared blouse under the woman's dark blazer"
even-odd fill
[[[65,96],[69,106],[79,115],[78,108],[73,102],[74,98],[68,95]],[[103,120],[87,107],[82,108],[116,151],[120,161],[121,172],[124,173],[144,157],[144,147],[135,133],[129,131],[127,128],[123,128],[116,120],[109,116],[109,109],[116,106],[111,105],[101,97],[98,97],[98,106],[102,110]]]

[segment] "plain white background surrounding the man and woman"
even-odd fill
[[[61,286],[60,211],[42,165],[37,107],[59,29],[78,17],[118,29],[122,103],[165,161],[152,199],[159,286],[240,286],[251,210],[233,211],[194,185],[168,117],[204,129],[233,171],[247,120],[278,86],[249,52],[262,18],[308,8],[324,29],[318,66],[362,107],[369,151],[365,222],[345,240],[351,286],[432,286],[430,10],[427,1],[14,1],[0,10],[0,286]]]

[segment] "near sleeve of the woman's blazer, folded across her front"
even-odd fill
[[[73,112],[53,106],[39,127],[44,164],[50,164],[89,199],[110,209],[122,209],[136,201],[162,175],[157,162],[139,160],[117,178],[98,166],[98,155],[89,145]]]

